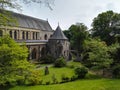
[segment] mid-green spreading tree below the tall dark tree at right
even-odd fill
[[[99,39],[86,40],[82,63],[87,67],[97,69],[108,68],[113,61],[108,51],[105,42]]]

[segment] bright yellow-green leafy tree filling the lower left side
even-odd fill
[[[9,36],[0,37],[0,85],[24,81],[33,65],[27,61],[28,49]]]

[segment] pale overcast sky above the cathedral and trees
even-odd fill
[[[44,5],[23,5],[22,13],[49,21],[53,29],[58,22],[63,30],[76,22],[90,28],[92,20],[99,13],[113,10],[120,13],[120,0],[55,0],[53,10]]]

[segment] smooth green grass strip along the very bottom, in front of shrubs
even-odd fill
[[[56,85],[16,86],[9,90],[120,90],[120,80],[78,80]]]

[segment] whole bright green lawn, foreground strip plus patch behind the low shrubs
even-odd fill
[[[62,84],[52,84],[53,75],[56,77],[58,82],[61,82],[61,77],[65,75],[66,77],[72,77],[74,75],[75,66],[81,65],[76,62],[69,62],[67,67],[63,68],[54,68],[49,67],[49,75],[44,75],[44,68],[38,68],[41,73],[42,84],[36,86],[16,86],[9,89],[0,89],[0,90],[120,90],[120,80],[119,79],[106,79],[106,78],[97,78],[95,76],[90,76],[90,73],[87,75],[86,79],[77,80],[73,82],[67,82]],[[94,76],[94,77],[93,77]],[[89,79],[93,77],[93,79]],[[45,85],[46,82],[50,82],[52,85]]]

